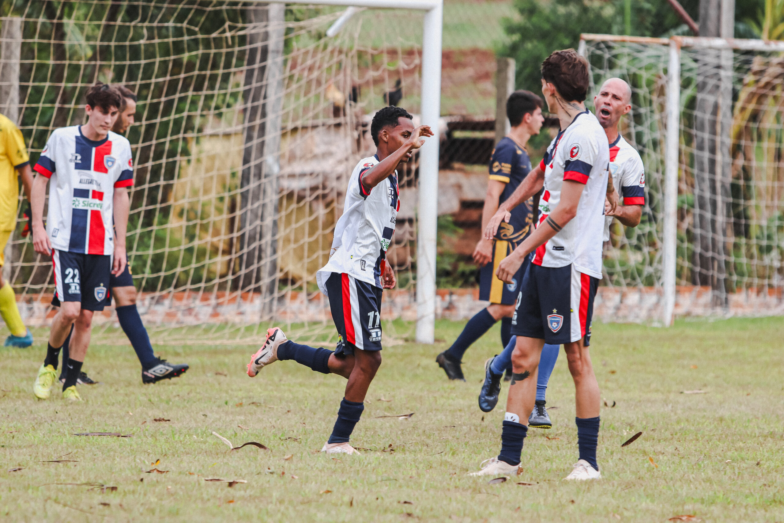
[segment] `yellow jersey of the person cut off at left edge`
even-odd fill
[[[22,132],[0,114],[0,231],[13,231],[16,227],[16,208],[19,205],[16,169],[29,162]]]

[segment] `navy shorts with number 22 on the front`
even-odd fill
[[[55,298],[52,304],[78,301],[87,311],[103,311],[109,304],[111,256],[52,249]]]

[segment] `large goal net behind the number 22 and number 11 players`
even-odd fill
[[[376,110],[397,104],[415,123],[420,112],[423,13],[352,10],[336,35],[328,28],[346,8],[229,0],[29,0],[0,19],[2,67],[19,68],[18,82],[0,78],[4,92],[18,91],[0,111],[16,111],[31,162],[53,129],[85,121],[94,82],[139,98],[126,133],[128,255],[154,341],[257,343],[273,320],[334,337],[315,273],[348,176],[375,151]],[[388,253],[398,290],[385,293],[385,317],[416,319],[416,157],[399,174]],[[5,274],[23,315],[44,325],[52,265],[23,226]],[[96,314],[110,343],[112,318]],[[385,325],[388,336],[407,333],[394,328]]]

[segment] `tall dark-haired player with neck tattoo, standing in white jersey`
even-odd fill
[[[550,112],[560,119],[561,130],[539,164],[544,173],[539,226],[496,272],[499,279],[511,281],[525,256],[535,252],[512,318],[517,344],[512,353],[501,452],[472,475],[517,472],[536,398],[539,354],[544,343],[550,343],[564,345],[575,381],[579,460],[567,479],[601,477],[596,461],[599,386],[583,340],[590,334],[593,296],[601,278],[609,151],[604,129],[583,104],[588,85],[588,63],[574,49],[555,51],[544,60],[542,92]],[[506,219],[507,209],[517,203],[513,194],[493,216],[488,229],[492,227],[494,232]]]

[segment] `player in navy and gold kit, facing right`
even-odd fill
[[[506,100],[506,117],[512,125],[508,136],[499,141],[490,158],[490,176],[485,196],[485,209],[482,211],[482,231],[498,210],[499,204],[506,201],[517,189],[525,176],[531,172],[531,159],[528,158],[526,143],[531,136],[539,134],[544,117],[542,99],[530,91],[515,91]],[[533,220],[532,202],[517,205],[511,211],[508,223],[503,223],[499,233],[492,240],[481,238],[474,249],[474,262],[481,267],[479,299],[489,301],[466,323],[452,347],[438,354],[436,362],[444,369],[450,380],[463,380],[461,363],[466,349],[485,332],[501,320],[501,347],[506,347],[510,339],[514,300],[517,298],[517,285],[525,271],[525,263],[512,278],[511,284],[504,284],[495,276],[501,260],[528,237]],[[503,371],[502,371],[503,372]]]

